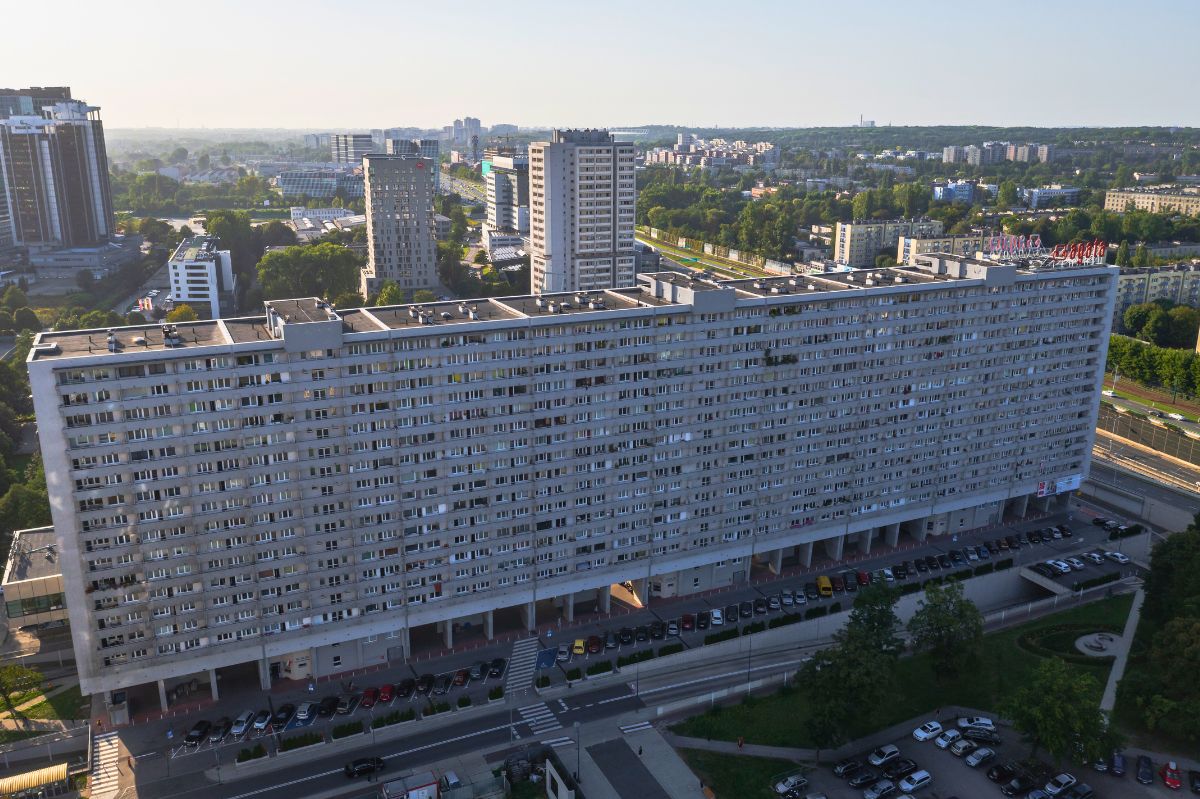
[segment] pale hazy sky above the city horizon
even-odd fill
[[[0,23],[24,31],[0,85],[70,85],[109,127],[1200,125],[1198,0],[44,0]]]

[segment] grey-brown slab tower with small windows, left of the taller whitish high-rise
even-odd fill
[[[437,163],[403,155],[370,154],[362,160],[367,206],[367,265],[362,296],[384,281],[402,289],[438,287],[433,173]]]

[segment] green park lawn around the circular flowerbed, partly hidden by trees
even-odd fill
[[[902,657],[896,666],[894,699],[886,707],[864,713],[860,723],[850,731],[850,737],[860,738],[949,704],[995,713],[1006,696],[1028,683],[1040,660],[1038,654],[1020,645],[1022,636],[1038,638],[1042,648],[1066,647],[1060,651],[1072,654],[1075,636],[1051,633],[1052,630],[1078,625],[1080,633],[1088,629],[1120,631],[1132,603],[1130,594],[1114,596],[989,633],[984,636],[978,667],[949,683],[937,680],[929,655]],[[1038,637],[1038,632],[1046,635]],[[1070,667],[1091,673],[1103,689],[1110,661],[1094,665],[1070,662]],[[674,725],[672,729],[694,738],[737,740],[740,735],[749,744],[811,746],[804,734],[806,711],[803,691],[791,687],[769,698],[752,697],[738,705],[709,710]]]

